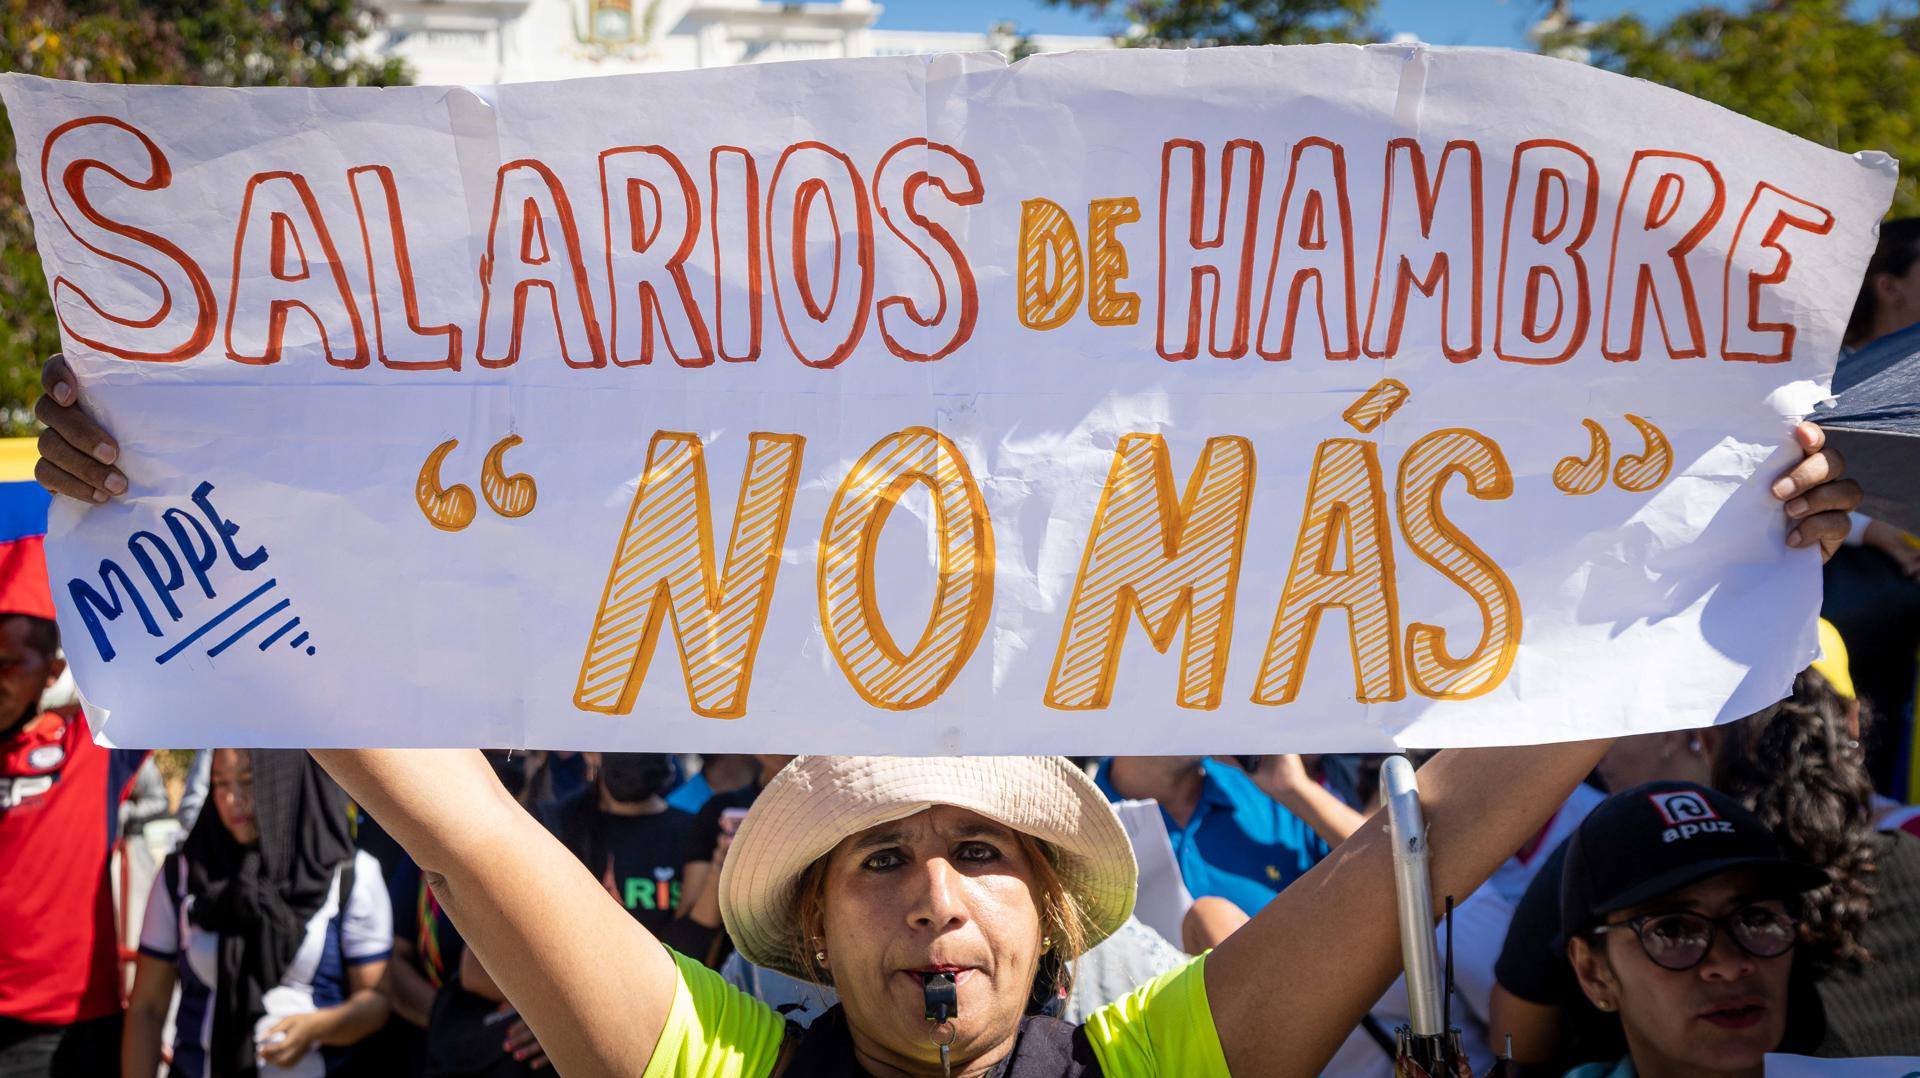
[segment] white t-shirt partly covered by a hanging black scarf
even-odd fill
[[[179,853],[169,857],[167,869],[148,895],[140,953],[175,963],[180,976],[169,1074],[205,1078],[207,1043],[213,1040],[213,992],[219,984],[219,936],[188,920],[194,897],[186,894],[186,863],[173,865],[180,857]],[[186,940],[184,949],[180,940]],[[348,895],[346,913],[340,911],[340,874],[336,874],[326,901],[307,920],[307,936],[300,942],[286,974],[263,999],[267,1015],[253,1026],[255,1038],[265,1036],[288,1015],[344,1003],[349,995],[348,967],[384,961],[392,951],[394,907],[386,895],[380,863],[371,853],[355,853],[353,894]],[[261,1074],[323,1078],[346,1061],[348,1051],[317,1047],[292,1068],[261,1063]]]

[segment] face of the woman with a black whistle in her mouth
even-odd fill
[[[954,972],[952,1061],[1012,1047],[1041,959],[1041,899],[1020,838],[935,807],[847,838],[828,855],[824,949],[854,1047],[900,1068],[937,1065],[927,972]]]

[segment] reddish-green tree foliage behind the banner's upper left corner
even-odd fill
[[[0,0],[0,71],[90,83],[390,86],[394,60],[355,46],[361,0]],[[40,361],[60,331],[33,250],[33,221],[0,121],[0,430],[33,429]]]

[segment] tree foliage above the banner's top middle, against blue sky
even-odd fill
[[[1375,0],[1048,0],[1125,21],[1125,44],[1373,40]]]

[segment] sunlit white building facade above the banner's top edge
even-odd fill
[[[874,29],[872,0],[374,0],[369,46],[417,83],[480,85],[924,52],[1112,48],[1104,37]],[[983,21],[991,12],[981,8]]]

